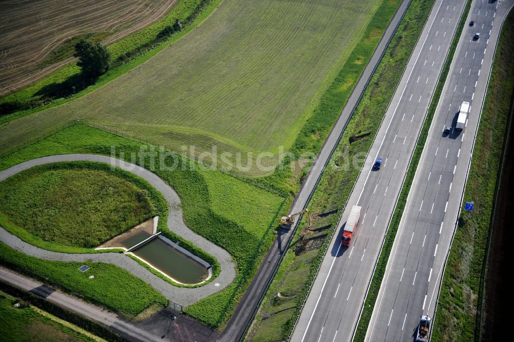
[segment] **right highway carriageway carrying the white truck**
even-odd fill
[[[366,341],[412,341],[422,314],[434,317],[440,281],[460,212],[495,45],[514,0],[474,0],[421,155]],[[474,21],[474,25],[469,23]],[[472,39],[480,33],[478,40]],[[463,101],[466,127],[454,125]],[[480,203],[476,203],[480,205]]]

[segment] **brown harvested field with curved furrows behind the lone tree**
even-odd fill
[[[104,44],[116,42],[159,20],[176,1],[0,2],[0,94],[68,63],[69,47],[59,56],[51,54],[71,38],[87,34]]]

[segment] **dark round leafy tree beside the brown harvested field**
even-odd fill
[[[100,43],[93,44],[81,39],[75,44],[75,57],[79,58],[78,66],[82,68],[82,74],[96,78],[105,74],[111,65],[111,52]]]

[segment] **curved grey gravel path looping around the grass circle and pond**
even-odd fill
[[[157,277],[148,271],[148,269],[138,264],[132,258],[129,258],[128,256],[121,253],[68,254],[54,252],[28,244],[20,238],[12,235],[3,227],[0,227],[0,241],[7,244],[11,248],[40,259],[83,262],[99,261],[117,265],[152,285],[155,290],[160,292],[169,300],[183,305],[184,307],[194,304],[202,298],[208,297],[222,289],[225,289],[225,287],[230,285],[230,283],[234,280],[235,264],[232,261],[230,254],[225,249],[215,245],[204,237],[199,236],[184,224],[182,220],[182,210],[180,208],[180,198],[178,197],[177,193],[168,184],[164,183],[164,181],[155,173],[152,173],[145,168],[135,164],[127,163],[121,159],[104,155],[63,154],[32,159],[15,165],[9,169],[0,171],[0,182],[16,173],[30,169],[31,167],[50,163],[58,163],[59,161],[97,161],[100,163],[107,163],[119,167],[120,169],[132,172],[135,175],[144,178],[147,182],[149,182],[153,187],[162,193],[170,206],[168,215],[168,228],[177,235],[188,241],[191,241],[193,244],[216,258],[221,266],[221,273],[219,276],[204,286],[195,288],[176,287]],[[218,284],[218,286],[216,286],[216,284]]]

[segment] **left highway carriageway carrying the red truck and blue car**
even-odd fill
[[[464,0],[436,0],[386,111],[291,341],[350,341]],[[384,162],[372,171],[377,157]],[[350,247],[340,236],[362,207]]]

